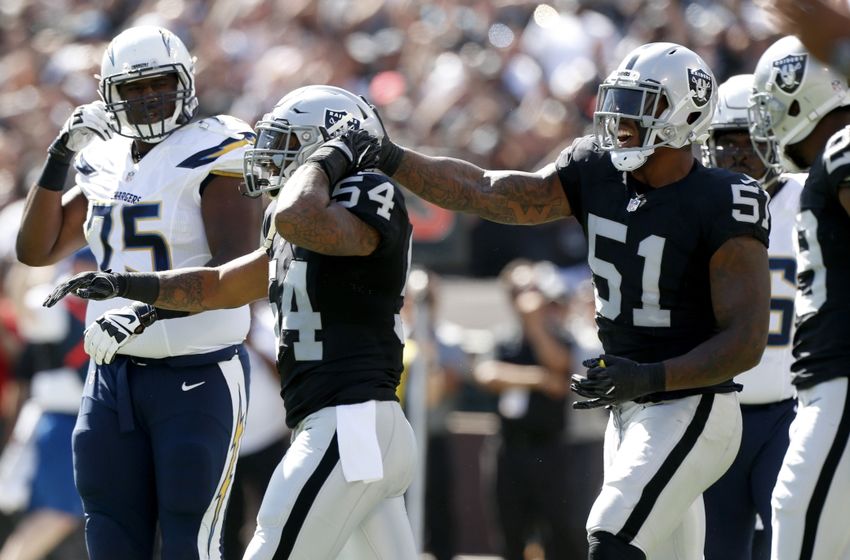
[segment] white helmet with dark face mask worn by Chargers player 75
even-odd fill
[[[119,93],[122,84],[166,74],[177,76],[177,89],[172,94],[122,99]],[[183,41],[162,27],[142,25],[121,32],[103,53],[99,78],[100,97],[107,110],[115,114],[115,132],[122,136],[161,142],[187,124],[198,108],[195,59]],[[173,111],[165,109],[172,103]],[[143,113],[155,111],[159,116],[147,119],[149,122],[130,122],[131,108]]]

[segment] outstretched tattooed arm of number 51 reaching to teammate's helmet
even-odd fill
[[[401,149],[393,179],[437,206],[504,224],[541,224],[572,214],[554,163],[536,173],[486,171],[463,160]]]

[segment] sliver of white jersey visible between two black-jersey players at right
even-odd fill
[[[744,385],[741,404],[766,404],[794,396],[791,385],[791,342],[794,339],[794,297],[797,259],[794,221],[806,174],[784,174],[785,184],[770,199],[770,333],[761,361],[739,374]]]

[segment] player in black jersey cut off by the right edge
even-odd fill
[[[796,219],[792,382],[797,416],[771,506],[771,558],[850,557],[850,89],[796,37],[759,59],[751,132],[783,168],[809,170]]]

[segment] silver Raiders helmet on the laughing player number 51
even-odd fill
[[[656,148],[704,139],[717,103],[711,68],[675,43],[648,43],[629,53],[599,86],[594,127],[620,171],[643,165]],[[637,123],[640,145],[621,147],[620,120]]]

